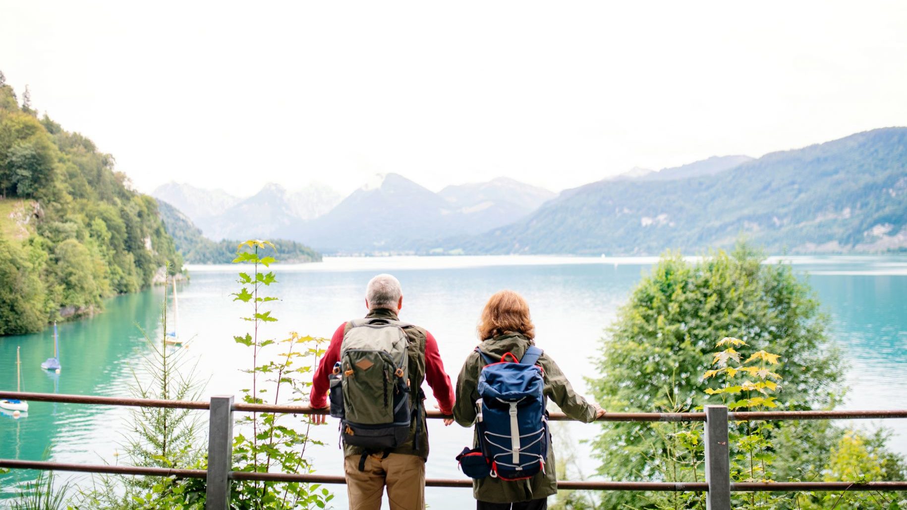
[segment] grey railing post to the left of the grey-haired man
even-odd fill
[[[208,420],[206,510],[229,508],[229,472],[233,457],[233,396],[211,397]]]

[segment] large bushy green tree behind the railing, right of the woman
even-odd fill
[[[827,318],[789,265],[763,261],[745,244],[696,263],[663,256],[602,340],[602,377],[590,380],[600,403],[610,411],[692,410],[705,401],[701,374],[715,338],[734,337],[784,354],[777,372],[785,408],[833,407],[843,393],[843,362],[828,341]],[[651,478],[666,449],[658,431],[633,423],[603,426],[594,446],[600,474],[615,480]],[[799,475],[801,467],[785,466],[777,477]],[[615,508],[631,497],[607,493],[602,504]]]

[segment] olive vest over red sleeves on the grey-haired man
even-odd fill
[[[400,320],[394,310],[390,309],[373,309],[368,312],[366,318],[382,317],[385,319]],[[346,323],[344,334],[349,330],[349,322]],[[419,406],[419,416],[414,419],[409,427],[409,437],[406,442],[395,448],[391,453],[421,456],[428,458],[428,430],[425,428],[425,396],[422,393],[422,383],[425,380],[425,330],[418,326],[407,326],[404,329],[406,336],[409,338],[409,346],[406,348],[409,357],[409,380],[410,387],[414,391],[410,394],[410,408],[415,409],[416,404]],[[414,444],[416,427],[419,427],[419,443]],[[360,446],[344,445],[344,456],[361,456],[365,451]]]

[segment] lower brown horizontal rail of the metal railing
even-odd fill
[[[45,471],[71,471],[78,473],[105,473],[131,476],[173,476],[176,478],[204,478],[204,469],[171,469],[167,467],[110,466],[105,464],[68,464],[31,460],[0,459],[0,467],[11,469],[41,469]],[[257,480],[268,482],[301,482],[307,484],[346,484],[344,476],[337,475],[296,475],[289,473],[230,472],[233,480]],[[429,487],[472,487],[469,479],[429,478]],[[651,491],[651,492],[706,492],[704,482],[602,482],[559,480],[558,488],[563,490],[600,491]],[[732,492],[789,492],[789,491],[907,491],[907,482],[736,482],[731,483]]]

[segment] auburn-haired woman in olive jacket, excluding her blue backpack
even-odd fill
[[[585,398],[573,391],[570,381],[564,377],[561,368],[543,351],[534,348],[535,326],[529,313],[529,305],[522,296],[512,290],[502,290],[494,294],[485,308],[479,321],[478,336],[482,340],[460,370],[456,383],[456,402],[453,406],[453,417],[463,427],[472,427],[479,417],[477,401],[479,395],[479,378],[483,368],[501,361],[522,360],[527,350],[532,347],[532,357],[538,355],[535,365],[541,368],[543,393],[568,417],[590,423],[602,417],[605,411],[587,402]],[[511,356],[507,356],[510,353]],[[511,359],[512,358],[512,359]],[[515,406],[515,405],[514,405]],[[512,407],[515,409],[516,407]],[[480,421],[482,418],[480,417]],[[547,430],[547,429],[546,429]],[[544,433],[547,441],[547,458],[541,464],[541,470],[530,477],[522,479],[502,479],[502,476],[485,476],[473,479],[473,496],[476,508],[480,510],[541,510],[548,507],[548,496],[558,492],[555,473],[554,451],[551,437]],[[510,442],[508,437],[506,442]],[[473,445],[480,446],[478,428]],[[478,454],[474,454],[478,455]],[[488,452],[483,449],[483,455]],[[509,457],[508,453],[504,458]],[[546,469],[545,466],[548,466]],[[519,468],[517,468],[519,469]]]

